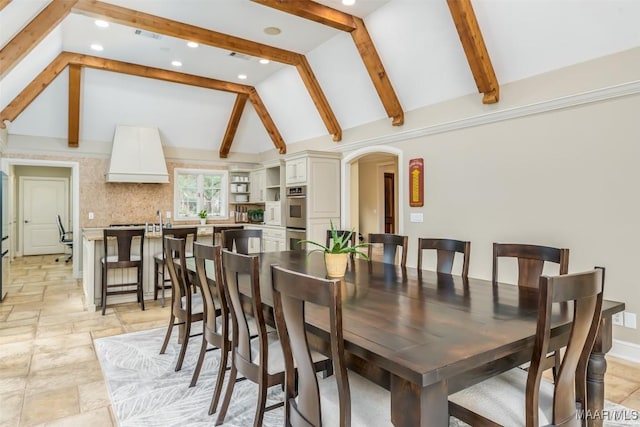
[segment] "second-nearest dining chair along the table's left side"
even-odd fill
[[[283,406],[283,402],[279,402],[265,407],[267,389],[284,384],[284,356],[276,330],[267,327],[264,317],[258,262],[256,255],[222,251],[222,274],[231,314],[231,372],[216,425],[224,422],[238,373],[259,388],[255,427],[262,425],[266,411]],[[248,300],[250,303],[245,303]],[[249,328],[251,320],[255,321],[258,332],[253,339]],[[318,370],[330,369],[326,357],[316,352],[313,357]]]

